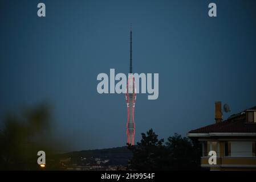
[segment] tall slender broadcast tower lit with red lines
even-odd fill
[[[130,31],[130,70],[127,81],[127,89],[125,94],[127,103],[127,143],[134,145],[135,135],[135,122],[134,122],[134,109],[136,101],[136,88],[135,81],[132,75],[132,28]]]

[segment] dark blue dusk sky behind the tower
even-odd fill
[[[128,73],[131,23],[133,71],[160,79],[157,100],[137,95],[136,142],[150,128],[167,138],[214,123],[214,101],[230,114],[256,105],[253,0],[1,0],[0,23],[1,122],[7,110],[47,101],[67,150],[125,145],[125,96],[98,94],[96,77]]]

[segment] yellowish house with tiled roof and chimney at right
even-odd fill
[[[256,106],[222,121],[221,102],[215,103],[216,123],[189,131],[202,143],[201,167],[212,170],[256,170]],[[217,164],[209,164],[209,151],[216,151]]]

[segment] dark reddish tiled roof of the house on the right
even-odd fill
[[[247,110],[256,110],[256,106]],[[256,123],[246,123],[246,114],[241,112],[225,121],[191,130],[189,133],[256,133]]]

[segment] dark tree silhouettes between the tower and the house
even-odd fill
[[[200,169],[200,147],[190,139],[174,134],[168,138],[165,146],[164,139],[159,140],[152,129],[147,131],[147,135],[142,133],[141,137],[137,145],[128,144],[128,149],[133,153],[130,169]]]

